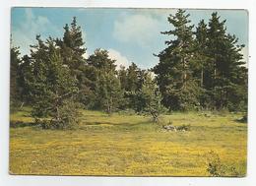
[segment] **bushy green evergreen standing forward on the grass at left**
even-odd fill
[[[77,80],[63,63],[52,38],[44,42],[38,35],[36,40],[30,58],[32,77],[26,82],[30,88],[32,116],[43,128],[70,128],[78,123],[74,102]]]

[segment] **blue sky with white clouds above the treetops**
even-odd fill
[[[248,61],[248,15],[243,10],[187,10],[195,26],[200,20],[206,22],[217,11],[221,20],[226,20],[226,30],[245,44],[242,53]],[[86,42],[87,56],[96,48],[109,51],[117,64],[128,66],[131,62],[140,68],[151,68],[158,63],[158,54],[164,49],[167,36],[160,31],[169,31],[167,16],[174,9],[110,9],[110,8],[13,8],[11,32],[13,44],[20,46],[22,54],[30,54],[30,44],[35,34],[42,38],[63,36],[63,27],[74,16],[81,26]]]

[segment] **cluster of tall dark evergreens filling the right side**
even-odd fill
[[[242,61],[238,38],[225,31],[217,13],[209,24],[202,20],[196,31],[189,14],[178,10],[168,17],[173,26],[165,41],[167,47],[157,55],[154,67],[162,93],[162,103],[171,110],[246,110],[247,69]]]

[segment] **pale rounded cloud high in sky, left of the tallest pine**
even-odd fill
[[[123,42],[136,42],[141,46],[154,43],[160,35],[160,21],[150,14],[135,14],[122,17],[114,23],[113,36]]]

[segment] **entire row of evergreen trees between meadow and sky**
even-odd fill
[[[135,63],[117,69],[105,49],[88,58],[81,27],[74,17],[62,38],[41,39],[30,55],[11,47],[11,111],[32,106],[32,116],[45,128],[68,128],[78,123],[78,108],[111,114],[132,109],[158,121],[164,110],[247,109],[247,68],[235,35],[213,13],[208,24],[191,25],[179,9],[167,21],[173,29],[166,48],[155,56],[152,69]],[[51,119],[48,119],[51,118]]]

